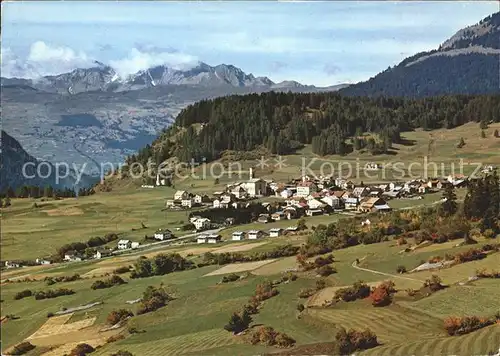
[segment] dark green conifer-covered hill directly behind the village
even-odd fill
[[[336,93],[263,93],[204,100],[128,162],[217,159],[226,150],[287,154],[311,144],[319,155],[387,151],[400,133],[500,120],[500,96],[425,99],[345,97]]]

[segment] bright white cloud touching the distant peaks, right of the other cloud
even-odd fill
[[[174,69],[188,69],[198,63],[196,57],[177,53],[161,51],[141,51],[133,48],[128,56],[123,59],[111,60],[109,64],[122,78],[141,70],[159,65],[167,65]]]

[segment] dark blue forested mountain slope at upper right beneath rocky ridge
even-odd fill
[[[345,95],[427,97],[500,93],[500,12],[459,30],[438,49],[417,53]]]

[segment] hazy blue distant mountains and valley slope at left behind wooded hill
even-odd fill
[[[119,163],[151,143],[184,107],[229,94],[337,90],[274,83],[231,65],[186,70],[158,66],[125,80],[111,67],[76,69],[37,80],[2,78],[3,128],[31,155],[52,162]]]

